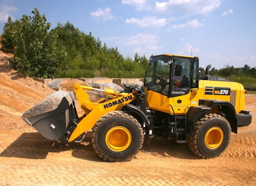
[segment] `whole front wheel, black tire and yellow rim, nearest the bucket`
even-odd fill
[[[131,160],[141,149],[143,140],[140,123],[122,111],[102,116],[92,130],[93,149],[108,162]]]

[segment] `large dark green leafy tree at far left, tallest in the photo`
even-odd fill
[[[54,33],[48,33],[51,24],[38,9],[33,17],[23,15],[17,35],[14,63],[20,74],[34,78],[52,78],[61,70],[64,53],[56,47]]]

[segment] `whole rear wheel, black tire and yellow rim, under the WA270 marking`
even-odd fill
[[[230,124],[220,114],[205,114],[188,133],[188,146],[203,159],[218,157],[230,141]]]

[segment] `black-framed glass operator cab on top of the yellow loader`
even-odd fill
[[[198,58],[163,54],[151,56],[145,74],[146,89],[167,97],[186,95],[198,88]]]

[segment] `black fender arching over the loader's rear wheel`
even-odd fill
[[[186,118],[189,123],[192,125],[196,121],[200,119],[202,114],[209,112],[216,112],[225,114],[226,119],[230,123],[231,131],[237,133],[237,117],[236,117],[236,109],[230,102],[222,101],[222,100],[199,100],[198,106],[193,106],[189,108],[188,113],[186,114]]]

